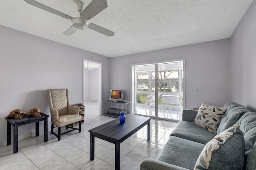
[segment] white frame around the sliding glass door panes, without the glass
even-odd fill
[[[176,63],[176,62],[183,62],[183,82],[182,82],[182,91],[183,91],[183,108],[186,108],[186,86],[185,86],[185,59],[174,59],[174,60],[168,60],[168,61],[156,61],[156,62],[150,62],[150,63],[138,63],[138,64],[131,64],[131,114],[136,114],[136,95],[135,95],[135,91],[137,88],[137,84],[136,84],[136,72],[135,72],[135,67],[136,66],[144,66],[144,65],[150,65],[150,64],[154,64],[155,65],[155,72],[158,71],[158,64],[163,64],[163,63]],[[158,80],[155,78],[155,101],[158,101]],[[154,116],[150,116],[150,115],[144,115],[147,117],[152,117],[155,119],[163,119],[163,120],[168,120],[170,121],[171,119],[166,119],[166,118],[162,118],[162,117],[158,117],[158,104],[155,104],[155,117]],[[172,120],[175,121],[175,120]]]

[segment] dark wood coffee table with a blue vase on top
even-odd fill
[[[138,115],[126,115],[124,124],[120,124],[119,119],[115,119],[93,129],[90,129],[90,160],[94,160],[94,137],[116,145],[115,166],[120,170],[120,143],[148,124],[148,140],[150,140],[150,117]]]

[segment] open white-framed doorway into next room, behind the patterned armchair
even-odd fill
[[[82,103],[88,105],[90,102],[94,106],[98,105],[97,111],[94,109],[94,112],[97,112],[97,115],[101,115],[102,62],[83,59]]]

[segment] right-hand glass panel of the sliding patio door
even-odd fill
[[[183,63],[158,64],[158,96],[160,98],[158,117],[163,119],[182,119]],[[161,105],[161,106],[160,106]]]

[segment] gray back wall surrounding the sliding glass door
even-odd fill
[[[110,88],[123,89],[124,100],[130,101],[131,64],[182,58],[186,60],[186,108],[198,108],[203,102],[224,106],[230,101],[229,39],[110,58]]]

